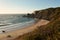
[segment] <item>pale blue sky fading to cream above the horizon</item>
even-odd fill
[[[60,7],[60,0],[0,0],[0,14],[32,13],[49,7]]]

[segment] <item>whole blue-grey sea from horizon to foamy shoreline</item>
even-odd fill
[[[0,14],[0,33],[23,29],[35,23],[34,18],[23,15],[26,14]]]

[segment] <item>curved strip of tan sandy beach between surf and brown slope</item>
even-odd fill
[[[37,23],[35,23],[29,27],[0,34],[0,40],[13,40],[14,38],[16,38],[20,35],[33,31],[34,29],[37,28],[37,26],[46,25],[47,23],[49,23],[49,21],[41,19],[40,21],[38,21]],[[7,37],[8,35],[10,35],[11,37],[10,38]]]

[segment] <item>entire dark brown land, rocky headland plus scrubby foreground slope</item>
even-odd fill
[[[14,40],[60,40],[60,7],[35,11],[26,17],[45,19],[50,22]]]

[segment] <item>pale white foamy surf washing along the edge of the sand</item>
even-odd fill
[[[35,21],[32,20],[32,21],[28,21],[28,22],[22,22],[22,23],[16,23],[16,24],[12,24],[12,25],[2,26],[2,27],[0,27],[0,33],[2,33],[2,31],[9,32],[12,30],[22,29],[29,25],[32,25],[34,22]],[[9,23],[7,23],[7,24],[9,24]],[[3,24],[3,25],[5,25],[5,24]]]

